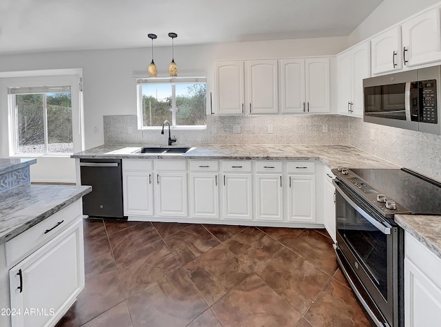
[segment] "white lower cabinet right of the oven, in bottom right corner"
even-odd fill
[[[404,326],[440,326],[441,260],[409,233],[404,238]]]

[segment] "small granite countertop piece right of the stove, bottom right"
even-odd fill
[[[413,235],[441,259],[440,215],[395,215],[394,218],[404,231]]]

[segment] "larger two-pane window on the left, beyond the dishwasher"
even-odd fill
[[[10,87],[15,154],[72,154],[70,86]]]

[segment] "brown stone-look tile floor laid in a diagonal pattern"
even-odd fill
[[[84,220],[61,326],[369,326],[320,229]]]

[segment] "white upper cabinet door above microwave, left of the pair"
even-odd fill
[[[401,28],[391,28],[371,39],[372,74],[400,70],[402,65]]]

